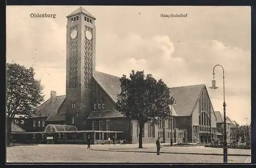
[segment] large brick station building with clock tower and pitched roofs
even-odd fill
[[[67,16],[66,95],[57,96],[51,91],[51,97],[25,121],[27,138],[45,141],[48,133],[55,132],[55,138],[65,142],[67,139],[84,142],[90,135],[93,143],[102,143],[113,136],[138,143],[138,122],[126,118],[115,108],[121,92],[120,77],[95,70],[95,21],[82,7]],[[176,100],[170,107],[173,124],[170,117],[158,125],[146,123],[143,143],[155,143],[158,136],[168,143],[171,132],[176,143],[181,143],[183,137],[193,143],[212,141],[218,133],[218,119],[205,85],[169,90]]]

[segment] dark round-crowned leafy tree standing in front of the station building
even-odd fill
[[[171,103],[169,89],[166,84],[156,80],[144,71],[132,70],[130,78],[123,75],[120,78],[121,93],[116,103],[117,110],[127,118],[139,123],[139,148],[142,147],[142,132],[144,124],[158,123],[159,119],[169,116]]]

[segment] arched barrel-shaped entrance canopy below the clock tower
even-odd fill
[[[56,125],[56,124],[49,124],[46,126],[45,132],[46,133],[55,133],[55,132],[70,132],[70,131],[77,131],[78,129],[73,125]]]

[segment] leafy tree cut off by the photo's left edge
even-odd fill
[[[34,69],[16,63],[6,67],[6,119],[7,145],[11,140],[11,122],[15,115],[26,118],[34,114],[36,107],[44,100],[40,80],[34,78]]]

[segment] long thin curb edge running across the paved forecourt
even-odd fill
[[[111,152],[138,152],[138,153],[156,153],[153,151],[118,151],[118,150],[101,150],[101,149],[91,149],[94,151],[111,151]],[[168,153],[168,154],[189,154],[189,155],[216,155],[216,156],[223,156],[223,154],[220,153],[184,153],[184,152],[166,152],[162,151],[161,153]],[[228,154],[228,156],[251,156],[248,154]]]

